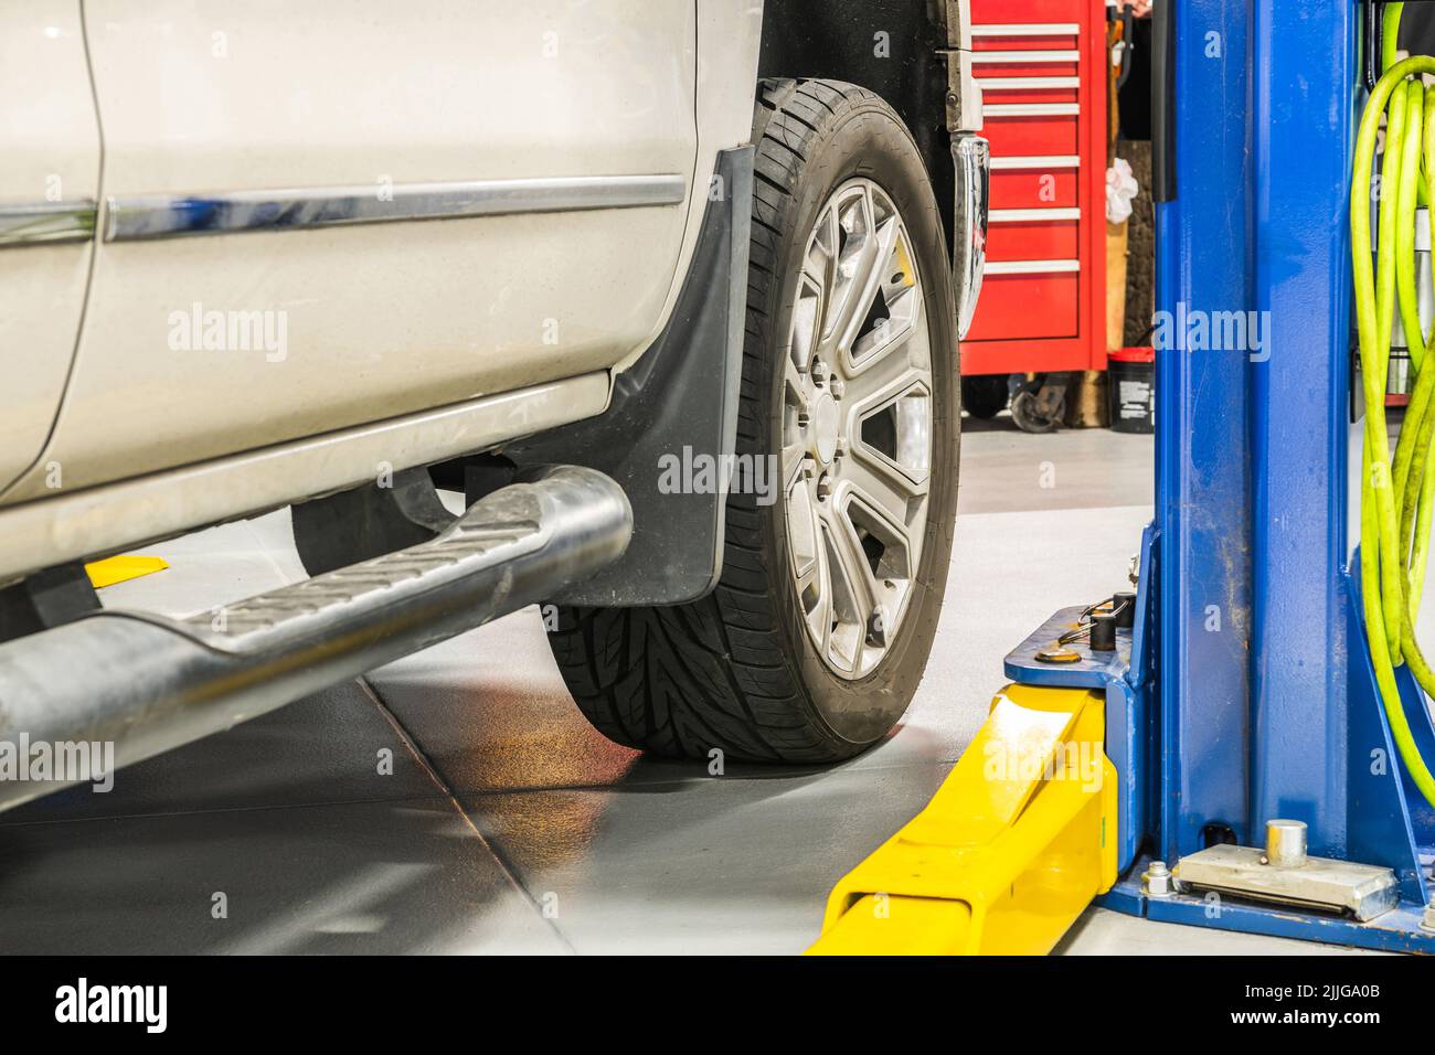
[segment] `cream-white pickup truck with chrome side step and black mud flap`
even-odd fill
[[[983,267],[966,0],[10,0],[0,98],[0,739],[123,765],[532,603],[633,746],[900,718]],[[244,603],[85,574],[283,507],[311,578]]]

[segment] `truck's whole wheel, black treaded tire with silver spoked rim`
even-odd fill
[[[888,733],[931,652],[957,498],[954,297],[921,155],[878,96],[763,82],[753,142],[736,454],[779,485],[729,494],[707,597],[561,609],[548,639],[618,744],[832,762]]]

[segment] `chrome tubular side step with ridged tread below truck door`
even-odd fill
[[[0,748],[113,744],[123,768],[551,597],[631,534],[608,477],[548,468],[432,541],[212,613],[100,611],[0,644]],[[0,810],[99,777],[0,778]]]

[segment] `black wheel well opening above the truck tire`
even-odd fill
[[[957,0],[766,0],[758,76],[829,78],[877,92],[917,141],[949,248],[960,112]]]

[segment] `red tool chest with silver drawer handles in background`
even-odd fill
[[[1106,6],[971,0],[992,142],[982,299],[961,372],[1106,369]]]

